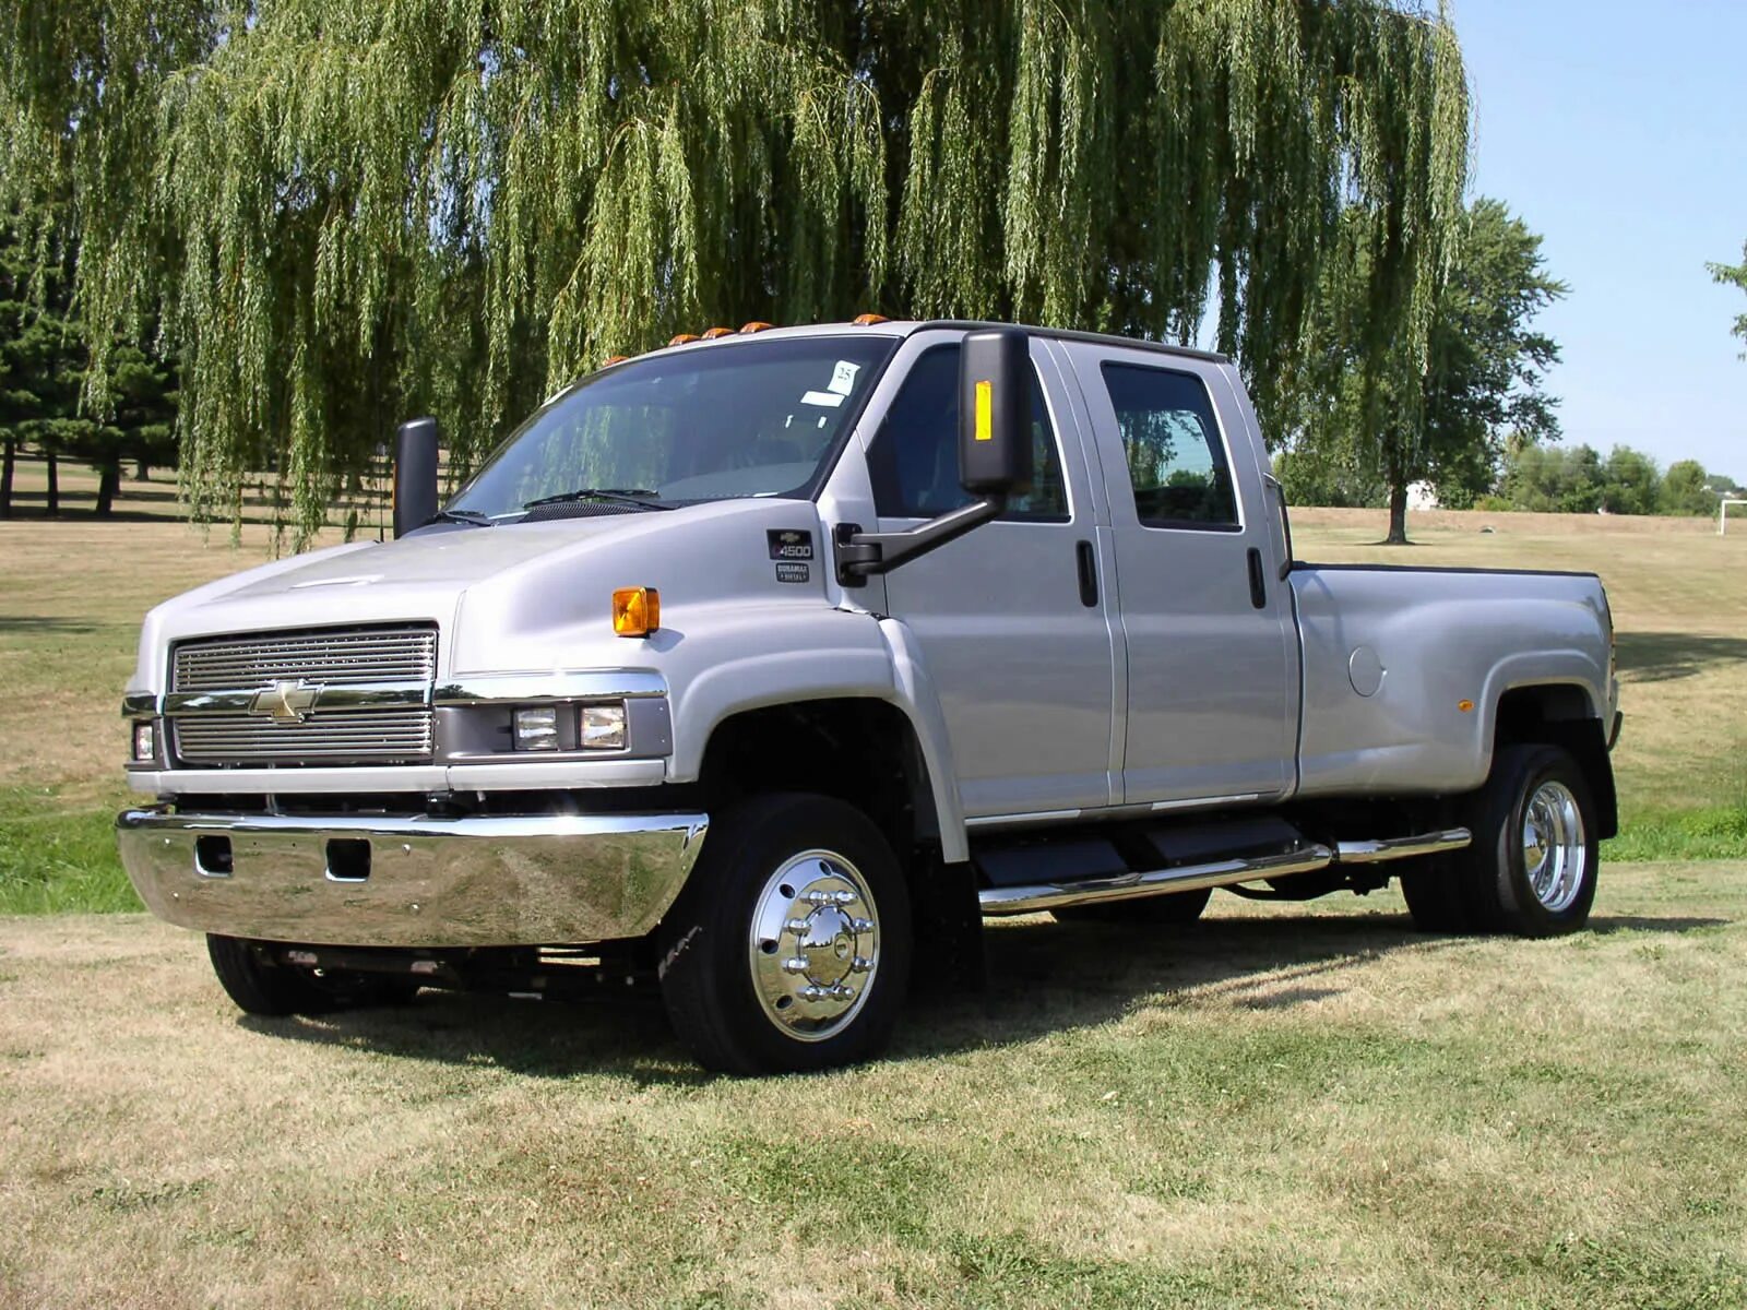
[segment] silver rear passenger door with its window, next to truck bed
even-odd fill
[[[1122,798],[1263,800],[1296,776],[1291,592],[1247,416],[1223,367],[1060,342],[1109,503],[1127,652]]]

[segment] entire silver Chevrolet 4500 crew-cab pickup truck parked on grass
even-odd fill
[[[1293,559],[1218,356],[715,330],[442,508],[405,424],[395,521],[145,620],[122,858],[250,1013],[646,980],[702,1064],[816,1069],[980,978],[985,915],[1394,873],[1543,936],[1614,831],[1600,582]]]

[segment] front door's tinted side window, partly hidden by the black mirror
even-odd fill
[[[1003,519],[1067,522],[1062,459],[1031,372],[1031,491],[1008,501]],[[935,346],[910,365],[868,451],[874,507],[889,519],[933,519],[970,503],[959,486],[959,348]]]

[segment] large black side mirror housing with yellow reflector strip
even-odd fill
[[[996,500],[1031,489],[1031,342],[1019,328],[964,337],[959,482],[973,496]]]

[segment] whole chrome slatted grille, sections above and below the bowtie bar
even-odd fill
[[[173,692],[248,692],[297,681],[320,686],[425,683],[437,676],[437,629],[334,629],[187,641],[173,652]],[[426,763],[430,707],[323,711],[304,721],[264,714],[171,720],[176,756],[190,765]]]

